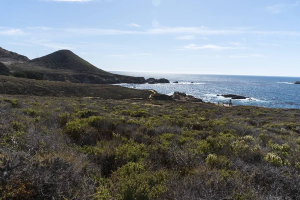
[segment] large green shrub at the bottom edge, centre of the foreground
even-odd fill
[[[112,174],[113,192],[117,199],[150,200],[167,190],[167,171],[146,170],[141,163],[128,162]]]

